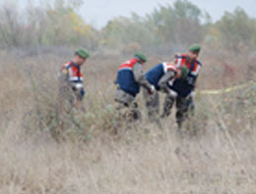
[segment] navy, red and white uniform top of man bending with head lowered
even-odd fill
[[[157,90],[161,89],[168,92],[169,89],[167,87],[167,82],[173,78],[176,71],[177,69],[173,63],[170,64],[163,62],[147,72],[146,78],[155,86]]]

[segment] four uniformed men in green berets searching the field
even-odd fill
[[[175,104],[176,121],[178,127],[181,127],[183,121],[194,111],[194,91],[202,67],[197,60],[200,51],[200,45],[193,44],[188,48],[187,54],[177,54],[173,62],[160,63],[147,73],[143,72],[143,65],[148,61],[147,57],[142,53],[135,53],[134,58],[123,63],[117,71],[115,80],[117,89],[114,96],[118,105],[117,111],[126,109],[128,114],[125,117],[129,117],[129,121],[140,120],[141,113],[136,96],[142,87],[149,120],[160,123],[160,119],[170,115]],[[89,56],[85,49],[80,48],[76,51],[73,61],[61,69],[59,76],[62,83],[61,92],[74,106],[78,106],[85,95],[80,69]],[[165,96],[161,114],[160,93]]]

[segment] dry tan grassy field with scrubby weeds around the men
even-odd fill
[[[256,193],[255,64],[227,56],[203,53],[198,90],[249,84],[198,93],[188,130],[177,131],[174,113],[162,129],[148,123],[139,96],[143,121],[112,134],[113,80],[126,57],[93,56],[83,67],[86,113],[62,116],[56,73],[69,56],[1,52],[0,193]],[[151,57],[145,69],[171,58]]]

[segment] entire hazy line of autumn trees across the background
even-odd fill
[[[256,19],[241,8],[225,12],[213,23],[208,13],[187,0],[161,5],[141,17],[117,17],[100,29],[79,15],[83,0],[51,0],[44,5],[30,1],[25,9],[8,3],[0,8],[0,47],[78,46],[91,51],[147,50],[168,53],[193,42],[211,48],[256,48]]]

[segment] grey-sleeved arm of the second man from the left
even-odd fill
[[[135,80],[143,87],[148,89],[149,91],[152,90],[152,84],[147,80],[145,74],[143,73],[142,65],[141,64],[135,64],[133,67],[133,74]]]

